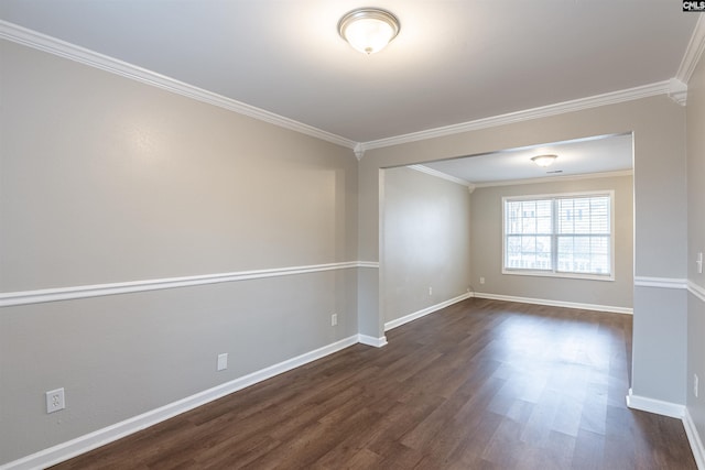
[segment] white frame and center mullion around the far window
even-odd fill
[[[557,271],[557,219],[556,219],[556,200],[557,199],[572,199],[579,197],[609,197],[609,274],[593,274],[593,273],[572,273]],[[508,201],[523,201],[523,200],[551,200],[552,211],[552,232],[551,237],[551,270],[530,270],[530,269],[516,269],[507,267],[507,203]],[[617,252],[615,251],[615,190],[589,190],[578,193],[554,193],[554,194],[536,194],[536,195],[523,195],[523,196],[502,196],[501,200],[501,218],[502,218],[502,274],[520,275],[520,276],[538,276],[538,277],[557,277],[557,278],[581,278],[593,281],[615,281],[615,259]]]

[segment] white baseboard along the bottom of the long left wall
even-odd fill
[[[59,444],[48,449],[41,450],[19,460],[0,466],[0,470],[24,470],[47,468],[58,462],[68,460],[80,453],[85,453],[97,447],[118,440],[130,434],[142,430],[149,426],[166,420],[189,409],[205,405],[225,395],[237,392],[256,383],[271,379],[292,369],[313,362],[317,359],[333,354],[358,342],[358,336],[341,339],[304,354],[288,359],[269,368],[261,369],[230,382],[214,386],[183,400],[170,403],[141,415],[131,417],[120,423],[104,427],[94,433],[86,434],[69,441]]]

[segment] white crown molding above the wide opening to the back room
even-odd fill
[[[403,143],[417,142],[426,139],[442,138],[446,135],[459,134],[463,132],[476,131],[479,129],[495,128],[498,125],[506,125],[532,119],[547,118],[566,112],[598,108],[600,106],[616,105],[619,102],[632,101],[636,99],[648,98],[657,95],[668,95],[670,91],[670,80],[664,80],[651,85],[629,88],[626,90],[612,91],[604,95],[558,102],[555,105],[542,106],[539,108],[532,108],[517,112],[509,112],[507,114],[477,119],[475,121],[462,122],[443,128],[429,129],[425,131],[412,132],[393,138],[362,142],[360,144],[360,149],[362,152],[365,152],[371,149],[381,149]]]

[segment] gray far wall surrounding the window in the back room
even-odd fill
[[[502,274],[502,197],[615,192],[615,281]],[[633,184],[631,176],[480,187],[473,193],[473,285],[480,294],[632,308]],[[479,282],[485,277],[485,285]]]

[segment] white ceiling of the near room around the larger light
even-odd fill
[[[369,6],[401,32],[366,56],[336,25]],[[668,80],[697,18],[674,0],[0,1],[7,22],[362,143]]]

